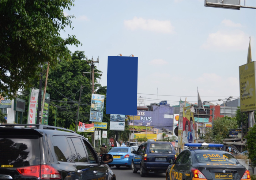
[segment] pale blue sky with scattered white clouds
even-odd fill
[[[96,60],[107,85],[108,56],[138,57],[138,96],[146,105],[167,100],[221,104],[218,99],[239,98],[238,67],[245,64],[251,36],[252,61],[256,58],[256,9],[204,7],[204,0],[76,0],[71,11],[75,35],[82,46],[72,52]],[[244,5],[244,0],[241,0]],[[256,7],[255,0],[246,0]],[[136,73],[131,69],[131,73]],[[123,82],[123,87],[132,88]]]

